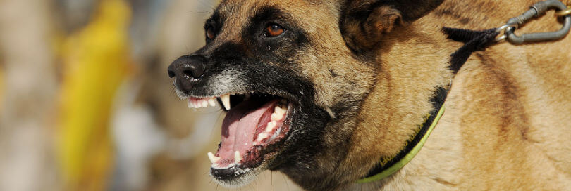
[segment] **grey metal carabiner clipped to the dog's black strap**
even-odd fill
[[[571,15],[565,15],[563,19],[563,27],[555,32],[538,32],[538,33],[530,33],[530,34],[522,34],[522,36],[517,36],[514,31],[517,26],[524,24],[530,18],[539,17],[540,15],[544,14],[550,8],[556,8],[558,11],[563,11],[567,9],[565,4],[561,3],[558,0],[546,0],[540,1],[532,6],[529,11],[526,11],[520,16],[515,18],[510,18],[506,25],[508,26],[503,28],[505,30],[504,35],[498,37],[499,40],[507,39],[512,44],[522,44],[524,42],[531,42],[531,41],[550,41],[561,39],[565,37],[571,28]],[[503,38],[502,38],[503,37]],[[496,39],[496,40],[498,40]]]

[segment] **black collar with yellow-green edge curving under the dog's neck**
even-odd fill
[[[428,139],[430,133],[434,129],[434,126],[438,124],[438,120],[444,113],[444,101],[446,100],[446,95],[448,95],[448,90],[446,90],[446,88],[439,87],[436,90],[434,97],[431,99],[434,109],[432,109],[426,116],[426,121],[419,126],[420,128],[417,130],[417,134],[408,140],[408,143],[403,150],[398,152],[394,157],[381,159],[379,164],[369,170],[367,176],[357,180],[357,183],[370,183],[376,180],[381,180],[391,176],[391,174],[403,168],[403,166],[410,162],[410,160],[417,155],[420,149],[422,149],[426,139]]]

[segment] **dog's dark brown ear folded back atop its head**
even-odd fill
[[[357,52],[371,51],[383,34],[426,15],[443,0],[346,0],[340,29],[347,45]]]

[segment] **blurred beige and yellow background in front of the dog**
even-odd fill
[[[217,0],[0,0],[0,190],[226,190],[223,113],[166,67],[204,45]],[[266,171],[238,190],[300,190]]]

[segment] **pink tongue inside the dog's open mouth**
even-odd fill
[[[232,107],[222,122],[219,157],[222,160],[233,161],[236,150],[240,151],[240,157],[242,157],[252,147],[260,119],[264,113],[269,112],[271,114],[274,112],[277,102],[277,100],[272,100],[260,107],[260,103],[245,101]]]

